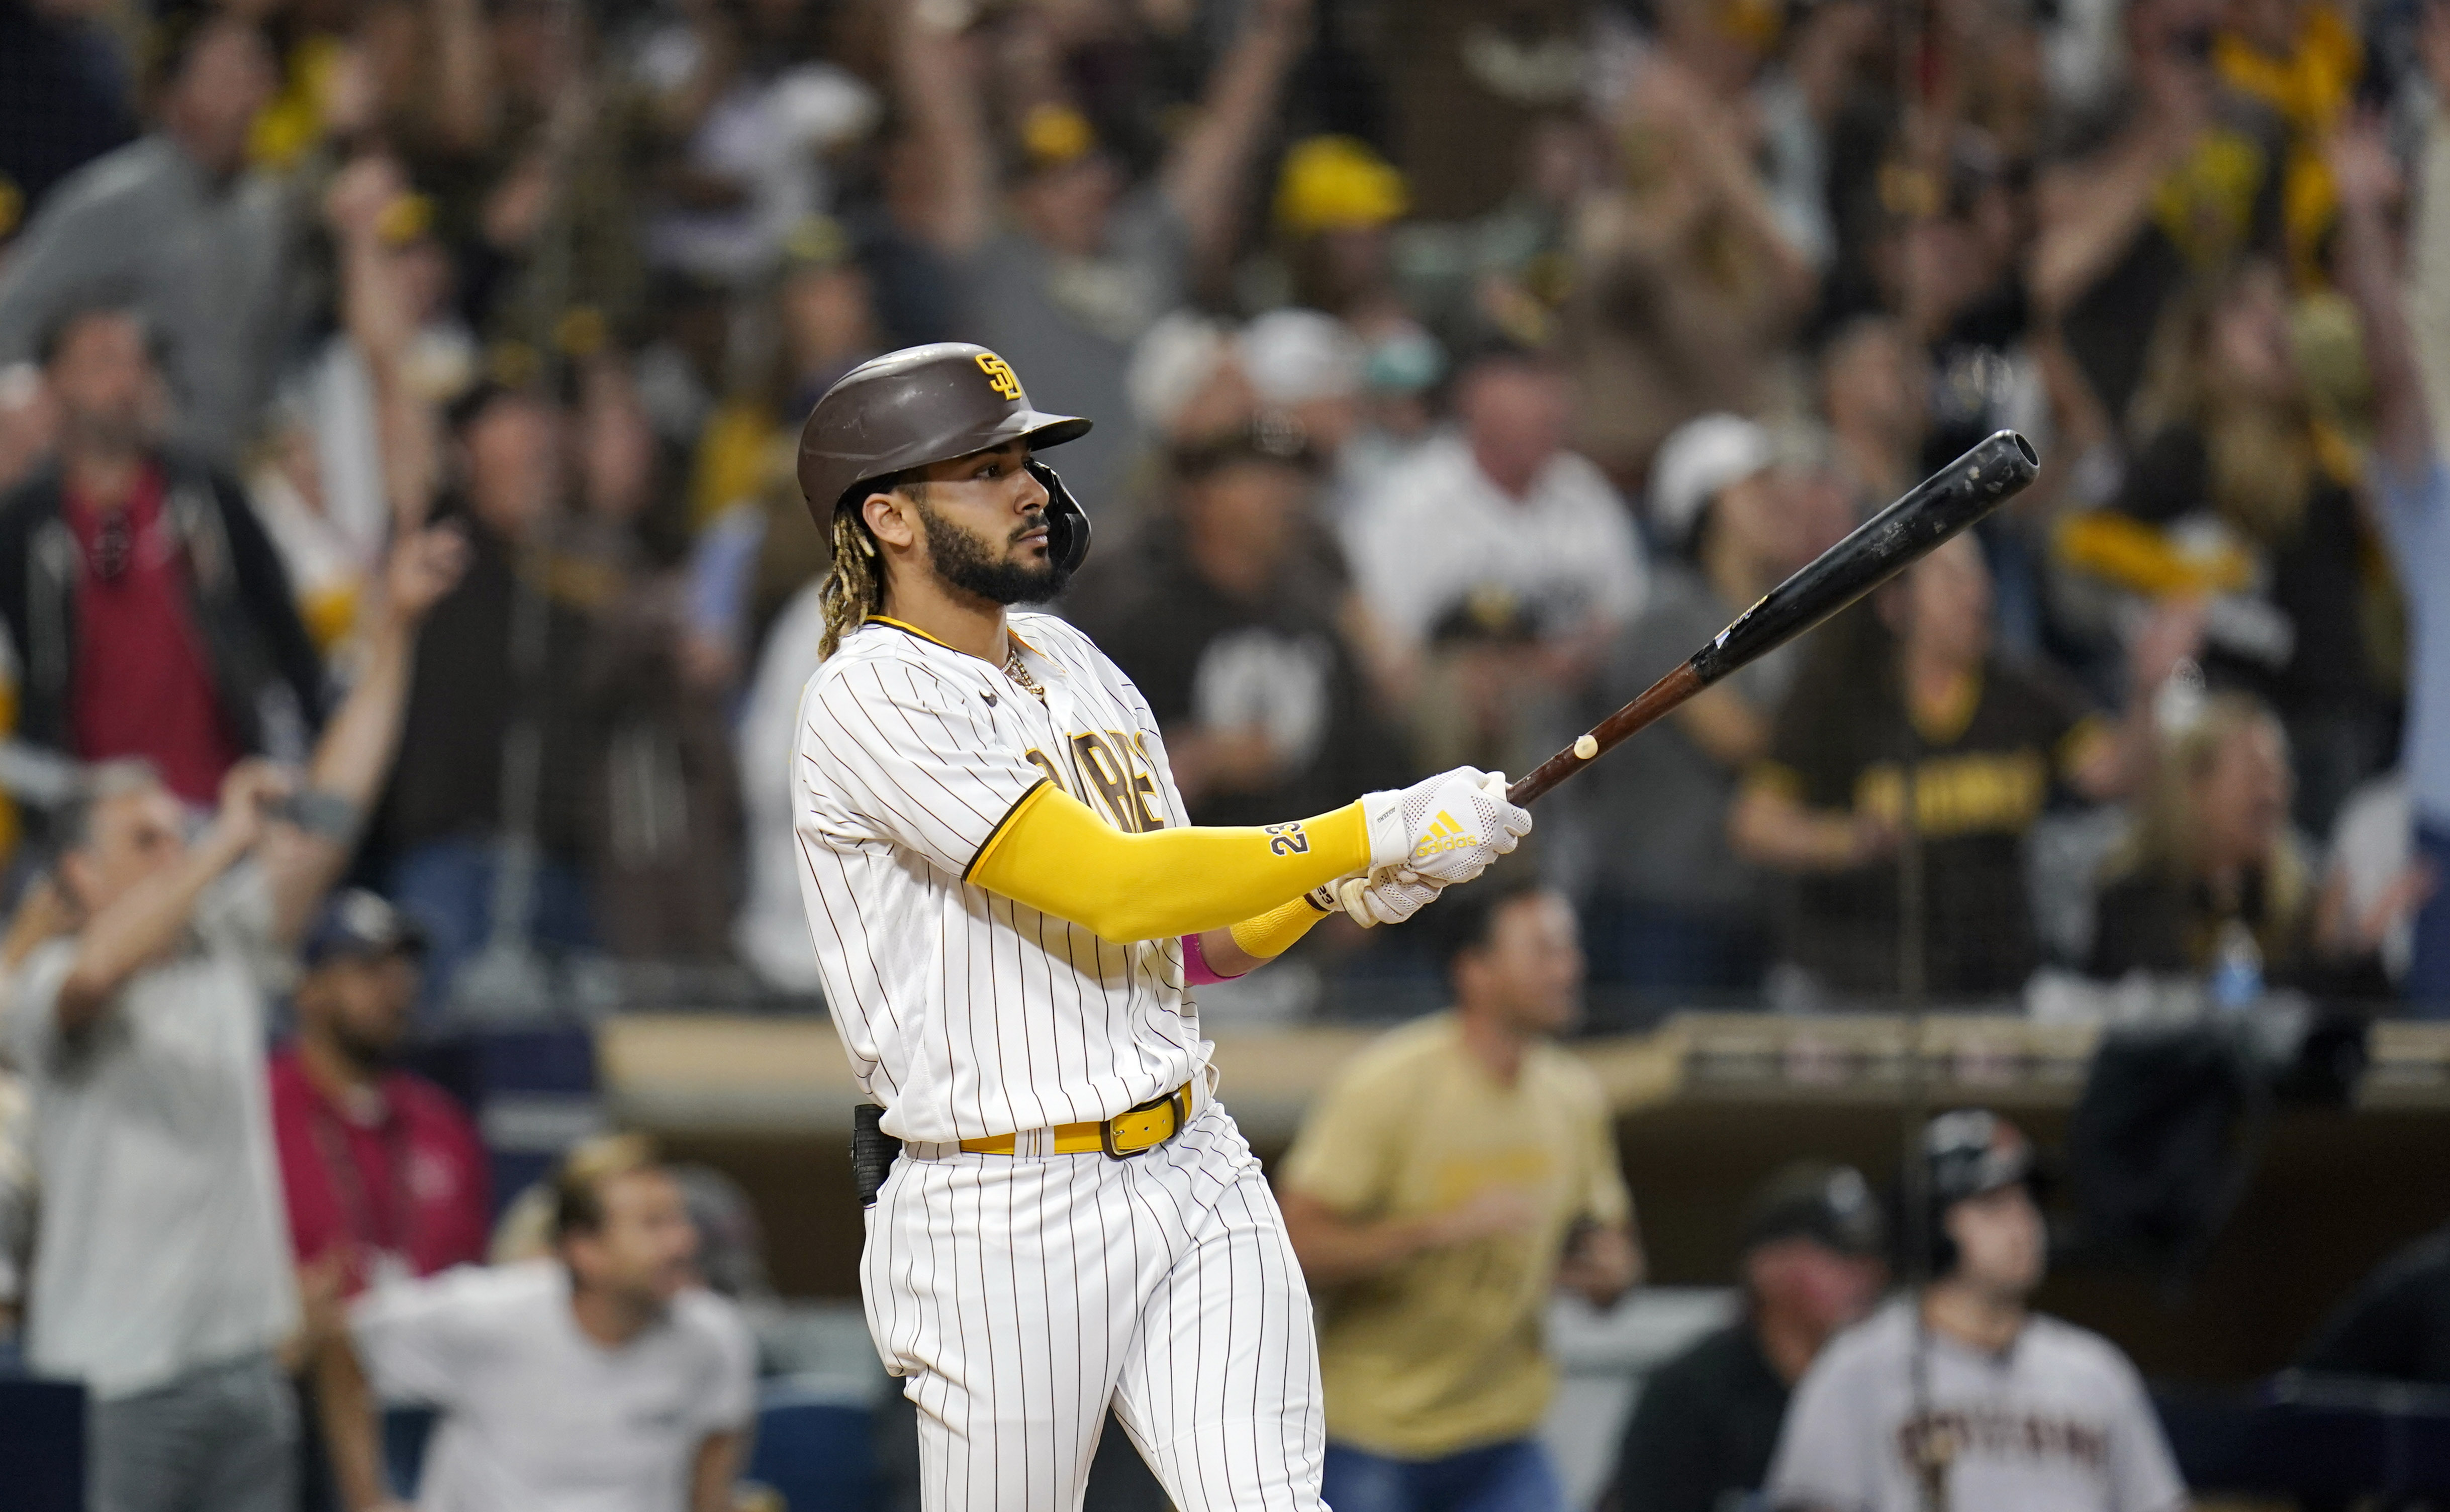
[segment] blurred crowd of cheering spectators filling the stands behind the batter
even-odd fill
[[[429,1012],[564,961],[813,988],[791,439],[938,338],[1098,421],[1058,608],[1215,823],[1524,772],[2014,426],[1977,539],[1551,804],[1597,983],[2450,1000],[2438,5],[0,25],[10,838],[56,755],[189,804],[299,757],[385,542],[458,522],[355,863]]]

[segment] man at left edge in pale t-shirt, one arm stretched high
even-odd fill
[[[145,762],[56,823],[61,931],[10,980],[5,1044],[42,1127],[27,1365],[88,1392],[96,1512],[287,1512],[299,1323],[265,1093],[265,1000],[355,845],[399,735],[451,527],[385,566],[358,686],[294,774],[243,760],[213,818]]]

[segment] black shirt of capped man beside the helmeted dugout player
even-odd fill
[[[1725,1512],[1769,1480],[1786,1382],[1752,1321],[1710,1333],[1642,1385],[1617,1456],[1617,1512]]]

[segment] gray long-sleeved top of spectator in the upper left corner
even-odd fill
[[[247,441],[289,314],[289,194],[216,184],[167,137],[64,179],[0,272],[0,365],[34,358],[83,304],[132,304],[164,343],[174,441],[228,466]]]

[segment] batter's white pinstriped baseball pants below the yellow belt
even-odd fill
[[[1218,1105],[1120,1162],[904,1149],[860,1291],[929,1512],[1080,1507],[1107,1404],[1181,1512],[1325,1507],[1311,1294]]]

